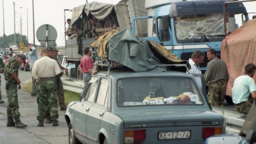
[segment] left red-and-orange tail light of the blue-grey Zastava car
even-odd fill
[[[140,144],[146,139],[146,130],[125,130],[125,144]]]

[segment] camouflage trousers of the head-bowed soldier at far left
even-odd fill
[[[9,88],[6,89],[8,106],[7,106],[7,117],[20,117],[19,102],[17,94],[17,84],[15,82],[9,82]]]

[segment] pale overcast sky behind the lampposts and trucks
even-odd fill
[[[97,1],[101,3],[116,4],[120,0],[87,0],[88,3]],[[22,34],[27,35],[29,43],[33,42],[33,15],[32,15],[32,0],[0,0],[0,36],[3,36],[3,9],[4,9],[4,25],[5,34],[14,34],[14,5],[15,12],[20,12],[22,17]],[[36,38],[37,29],[44,24],[52,25],[57,31],[57,46],[65,45],[64,35],[64,9],[73,9],[74,7],[85,4],[86,0],[34,0],[34,20],[35,20],[35,44],[40,45]],[[4,5],[4,7],[3,7]],[[256,2],[244,3],[247,12],[256,12]],[[23,8],[20,8],[23,7]],[[26,9],[28,8],[28,19]],[[15,32],[20,33],[20,13],[16,13],[15,17]],[[72,12],[66,11],[66,19],[71,18]],[[27,25],[28,21],[28,25]],[[67,24],[66,24],[67,27]],[[18,38],[16,37],[18,43]]]

